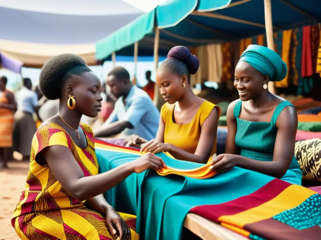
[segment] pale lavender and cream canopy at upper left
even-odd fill
[[[65,52],[93,65],[95,43],[143,13],[121,0],[1,0],[0,52],[24,66]]]

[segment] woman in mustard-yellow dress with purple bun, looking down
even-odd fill
[[[157,69],[156,83],[166,103],[160,110],[156,139],[130,136],[127,146],[143,144],[142,152],[168,152],[177,159],[207,163],[216,153],[216,132],[221,108],[195,96],[190,76],[199,61],[187,47],[173,47]]]

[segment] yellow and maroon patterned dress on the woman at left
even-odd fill
[[[48,164],[39,165],[35,157],[42,149],[62,145],[73,153],[85,176],[98,174],[94,135],[86,124],[80,124],[87,139],[87,148],[79,148],[69,134],[57,124],[45,124],[35,133],[30,154],[29,172],[20,201],[11,220],[21,239],[114,239],[108,232],[105,217],[88,209],[85,201],[72,197],[58,182]],[[135,232],[136,217],[119,213]]]

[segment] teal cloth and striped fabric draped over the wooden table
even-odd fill
[[[100,172],[140,156],[137,149],[101,141],[95,147]],[[178,161],[164,153],[157,155],[177,170],[204,166]],[[315,239],[321,234],[320,195],[238,167],[206,179],[177,174],[161,176],[147,170],[131,174],[105,197],[117,211],[137,215],[140,239],[181,239],[188,212],[221,223],[250,239]],[[273,233],[269,224],[274,226]],[[304,238],[293,238],[303,235]]]

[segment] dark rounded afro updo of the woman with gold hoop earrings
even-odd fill
[[[64,84],[74,75],[91,72],[81,57],[64,53],[49,59],[41,68],[39,88],[49,100],[59,99]]]

